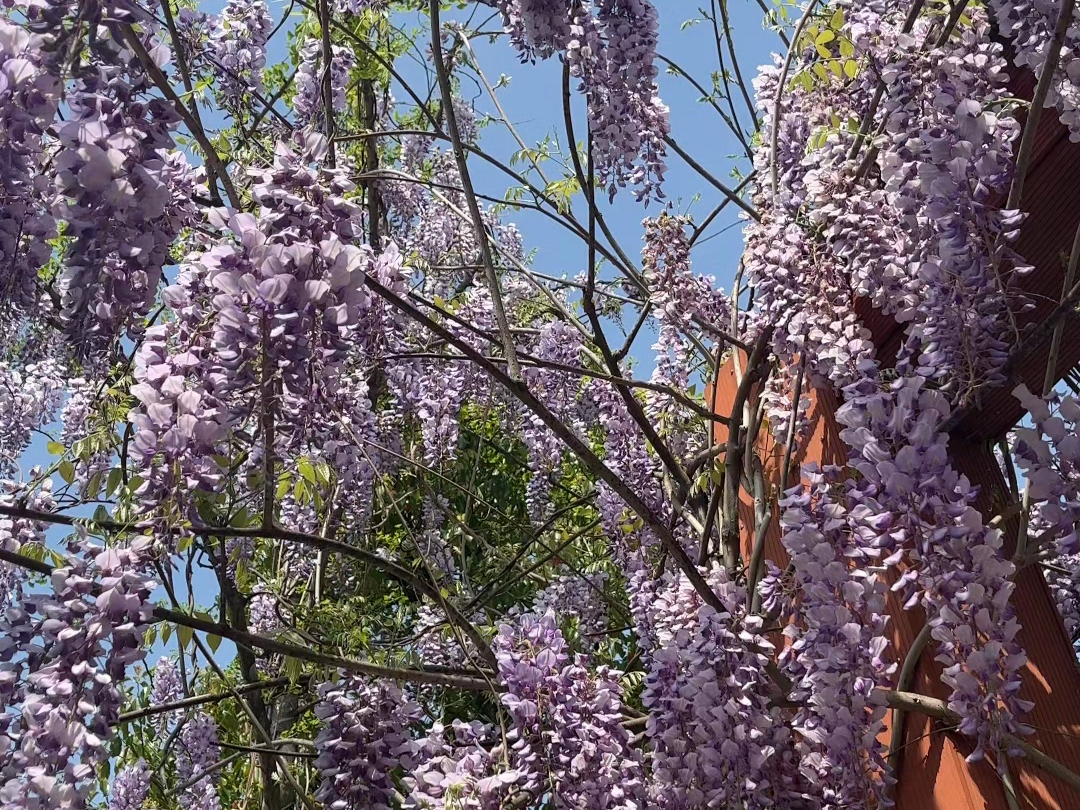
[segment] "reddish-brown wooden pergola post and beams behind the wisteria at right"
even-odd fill
[[[1017,71],[1011,83],[1013,95],[1022,98],[1030,98],[1034,86],[1035,78],[1028,71]],[[1012,389],[1024,382],[1035,393],[1042,390],[1054,321],[1064,323],[1054,379],[1066,378],[1080,364],[1076,318],[1071,312],[1061,314],[1066,266],[1080,225],[1080,144],[1069,141],[1068,131],[1053,110],[1047,110],[1039,122],[1023,208],[1029,215],[1016,249],[1035,270],[1021,281],[1021,288],[1036,307],[1020,316],[1022,338],[1013,347],[1007,368],[1010,382],[983,392],[976,406],[954,414],[948,422],[953,464],[980,487],[976,505],[987,519],[1012,500],[994,456],[994,446],[1024,416]],[[888,365],[900,348],[903,327],[865,299],[854,301],[854,306],[873,335],[878,357]],[[1069,309],[1075,307],[1074,302]],[[730,411],[737,389],[734,369],[728,363],[711,389],[714,413]],[[793,462],[799,467],[812,462],[843,464],[848,454],[834,418],[839,404],[835,393],[811,390],[807,395],[811,400],[811,428],[795,448]],[[717,423],[715,431],[718,442],[727,442],[726,426]],[[780,485],[784,448],[775,445],[767,430],[761,433],[758,451],[766,480],[775,489]],[[754,503],[745,491],[740,492],[740,499],[742,554],[743,559],[750,559],[756,531]],[[1018,516],[1005,521],[1003,528],[1005,551],[1011,554],[1016,543]],[[781,567],[787,562],[775,514],[766,534],[766,555]],[[1018,640],[1029,658],[1020,694],[1035,703],[1024,718],[1036,728],[1028,742],[1080,772],[1080,669],[1037,567],[1027,567],[1020,573],[1013,604],[1023,624]],[[924,625],[924,616],[921,608],[904,610],[895,598],[890,605],[890,616],[894,650],[897,661],[903,661]],[[947,689],[939,678],[941,665],[934,661],[933,644],[931,640],[919,658],[908,688],[944,699],[948,697]],[[890,711],[887,721],[891,738],[894,712]],[[896,772],[897,810],[1010,810],[1004,785],[993,765],[986,761],[969,765],[966,756],[970,743],[941,723],[923,715],[908,716],[902,746]],[[1022,810],[1080,810],[1080,792],[1022,758],[1011,760],[1010,767]]]

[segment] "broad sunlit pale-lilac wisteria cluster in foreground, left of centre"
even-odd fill
[[[148,507],[217,490],[230,433],[268,409],[275,442],[295,444],[321,435],[329,408],[350,393],[338,382],[368,305],[370,251],[349,244],[359,211],[341,194],[351,186],[312,167],[325,149],[313,134],[279,145],[274,165],[253,172],[259,216],[216,217],[222,237],[191,254],[163,293],[175,319],[148,330],[132,388]]]

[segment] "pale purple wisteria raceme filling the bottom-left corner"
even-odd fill
[[[123,683],[140,661],[154,583],[148,544],[79,536],[43,593],[0,619],[0,804],[81,810],[109,756]]]

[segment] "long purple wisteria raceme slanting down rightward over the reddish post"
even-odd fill
[[[975,491],[948,461],[939,426],[946,397],[912,374],[887,390],[873,378],[845,391],[837,413],[840,437],[851,447],[848,467],[862,484],[848,497],[868,524],[860,532],[865,553],[908,566],[893,586],[907,605],[921,600],[937,642],[942,680],[962,733],[975,738],[970,759],[1002,752],[1003,733],[1022,733],[1030,708],[1017,697],[1027,662],[1016,642],[1020,623],[1009,604],[1015,566],[1002,552],[999,529],[983,523]]]

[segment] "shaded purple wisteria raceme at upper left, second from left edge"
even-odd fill
[[[163,69],[168,49],[152,31],[141,46]],[[138,332],[180,229],[198,216],[194,173],[175,152],[179,117],[129,43],[106,41],[108,60],[79,76],[56,127],[54,214],[71,237],[58,279],[60,316],[83,357]]]

